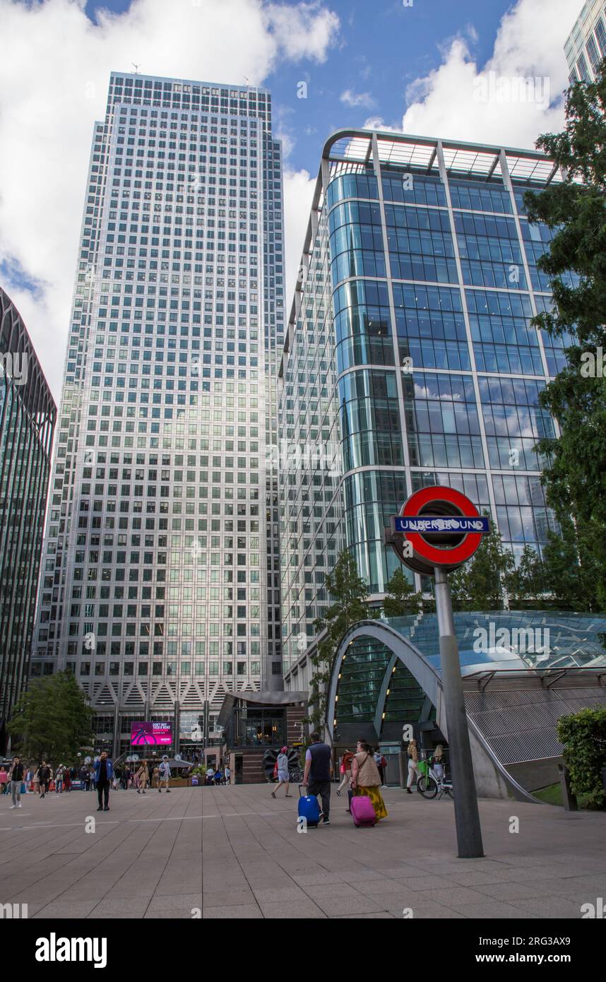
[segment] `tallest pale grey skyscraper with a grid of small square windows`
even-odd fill
[[[98,746],[167,720],[184,748],[205,702],[281,684],[283,217],[269,92],[112,73],[34,643],[34,671],[76,673]]]

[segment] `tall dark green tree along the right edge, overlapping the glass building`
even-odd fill
[[[605,69],[606,61],[595,82],[577,82],[568,90],[564,131],[537,141],[537,147],[563,168],[565,180],[525,195],[528,220],[544,222],[553,233],[549,250],[537,265],[549,277],[554,308],[540,313],[533,323],[570,344],[566,364],[540,395],[541,405],[561,429],[560,437],[545,437],[538,444],[551,462],[542,480],[547,502],[560,522],[572,515],[591,529],[586,545],[597,574],[592,592],[602,609],[606,601]],[[582,578],[578,569],[574,577]]]

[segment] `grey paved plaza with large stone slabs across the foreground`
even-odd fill
[[[448,799],[389,789],[389,818],[356,829],[333,791],[330,827],[302,834],[297,797],[280,795],[115,791],[99,813],[92,792],[28,794],[15,810],[2,796],[0,902],[38,918],[532,919],[606,897],[604,813],[480,800],[486,857],[458,859]]]

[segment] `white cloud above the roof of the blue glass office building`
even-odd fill
[[[570,8],[570,0],[518,0],[503,17],[483,66],[470,51],[473,28],[467,37],[454,38],[439,68],[409,86],[401,129],[418,136],[528,148],[539,134],[561,129]],[[369,122],[375,129],[391,129],[380,118]]]

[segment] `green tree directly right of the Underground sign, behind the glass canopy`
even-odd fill
[[[453,609],[502,610],[505,606],[506,584],[514,566],[514,557],[503,546],[501,533],[492,522],[490,532],[482,535],[479,549],[473,558],[449,576]]]

